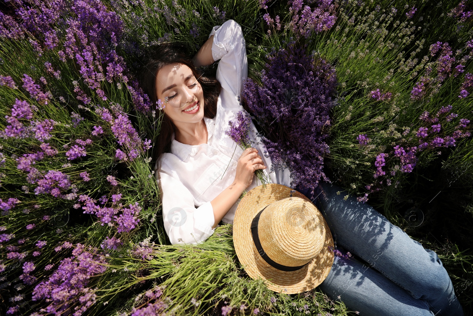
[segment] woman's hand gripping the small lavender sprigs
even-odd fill
[[[254,172],[258,169],[266,169],[258,150],[253,147],[245,149],[238,158],[234,182],[245,190],[253,182]]]

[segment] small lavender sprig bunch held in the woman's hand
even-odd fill
[[[254,141],[248,135],[250,123],[251,117],[247,113],[239,111],[237,114],[236,124],[232,121],[228,121],[230,129],[225,131],[225,134],[230,136],[230,138],[233,139],[235,143],[238,144],[238,146],[240,146],[243,150],[250,148],[254,144]],[[235,153],[235,151],[233,153]],[[256,170],[254,174],[263,184],[263,188],[265,188],[266,183],[269,183],[269,181],[266,175],[264,174],[263,169]]]

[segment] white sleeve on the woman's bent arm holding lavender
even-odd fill
[[[164,228],[171,244],[196,244],[215,231],[210,201],[196,208],[192,193],[181,181],[166,172],[159,172],[163,190]]]

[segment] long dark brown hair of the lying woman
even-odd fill
[[[196,69],[192,58],[189,57],[186,46],[181,43],[166,43],[153,47],[148,56],[146,66],[141,72],[141,86],[153,104],[153,109],[156,110],[158,116],[162,119],[159,130],[159,135],[155,139],[153,146],[153,160],[157,162],[158,169],[158,187],[159,194],[162,200],[161,177],[159,171],[161,170],[161,156],[163,153],[171,152],[171,137],[175,133],[176,127],[171,118],[167,114],[160,113],[157,109],[158,93],[156,91],[156,75],[158,71],[167,65],[173,63],[182,63],[191,68],[193,75],[202,86],[204,96],[204,117],[214,118],[217,114],[217,99],[219,98],[221,85],[215,78],[209,78],[202,75],[199,69]]]

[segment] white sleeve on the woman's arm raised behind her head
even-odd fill
[[[216,78],[222,88],[239,96],[243,89],[243,80],[248,77],[246,44],[241,26],[234,20],[228,20],[221,26],[212,28],[212,57],[219,62]]]

